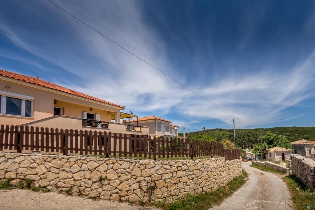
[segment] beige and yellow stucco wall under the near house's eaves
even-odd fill
[[[6,88],[7,86],[10,88]],[[110,113],[119,112],[122,109],[5,77],[0,77],[0,90],[34,97],[32,118],[0,115],[1,124],[20,125],[53,116],[54,106],[64,107],[65,115],[81,117],[81,111],[88,111],[100,114],[101,121],[110,122]],[[57,99],[56,104],[54,104],[54,99]],[[89,111],[90,107],[93,108],[92,111]]]

